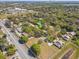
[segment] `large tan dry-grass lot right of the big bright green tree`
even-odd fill
[[[43,42],[41,44],[41,53],[40,53],[40,59],[49,59],[51,55],[56,53],[58,49],[55,46],[48,46],[47,43]]]

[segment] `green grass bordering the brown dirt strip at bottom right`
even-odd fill
[[[62,48],[61,51],[57,55],[55,55],[52,59],[59,59],[60,57],[63,56],[63,54],[65,54],[71,48],[73,48],[75,52],[72,54],[73,56],[71,56],[70,58],[71,59],[78,59],[79,48],[73,46],[72,44],[68,44],[67,46]]]

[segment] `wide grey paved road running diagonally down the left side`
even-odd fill
[[[17,48],[17,51],[22,59],[36,59],[28,54],[28,48],[25,48],[24,45],[20,44],[18,42],[18,37],[16,37],[13,33],[9,31],[8,28],[6,28],[3,24],[3,21],[0,21],[0,25],[3,28],[3,32],[7,34],[7,37],[9,37],[9,40],[15,45]]]

